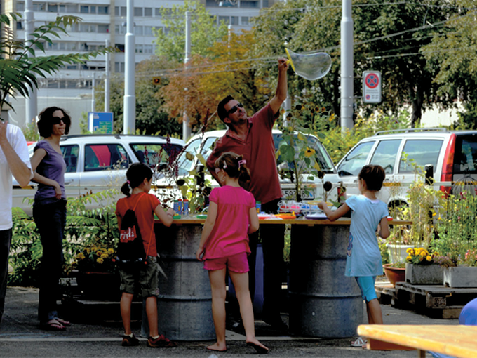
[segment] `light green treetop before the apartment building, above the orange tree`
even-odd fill
[[[161,7],[161,22],[164,30],[156,30],[156,55],[184,62],[185,12],[191,11],[191,53],[206,56],[215,44],[227,34],[222,22],[215,25],[215,16],[210,16],[199,1],[185,0],[181,6]]]

